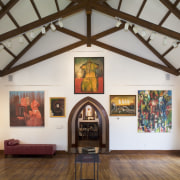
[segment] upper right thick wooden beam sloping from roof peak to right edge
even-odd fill
[[[122,18],[122,19],[124,19],[126,21],[137,24],[137,25],[142,26],[144,28],[147,28],[147,29],[159,32],[160,34],[164,34],[166,36],[169,36],[169,37],[172,37],[174,39],[180,40],[180,33],[178,33],[178,32],[175,32],[175,31],[172,31],[170,29],[161,27],[159,25],[150,23],[148,21],[139,19],[137,17],[126,14],[124,12],[120,12],[120,11],[118,11],[116,9],[108,8],[106,6],[102,6],[102,5],[99,5],[97,3],[93,3],[92,8],[97,10],[97,11],[100,11],[100,12],[102,12],[104,14],[107,14],[107,15],[110,15],[110,16],[113,16],[113,17]]]

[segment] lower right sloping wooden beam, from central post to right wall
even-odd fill
[[[101,48],[107,49],[107,50],[109,50],[109,51],[112,51],[112,52],[114,52],[114,53],[123,55],[123,56],[125,56],[125,57],[128,57],[128,58],[130,58],[130,59],[132,59],[132,60],[135,60],[135,61],[137,61],[137,62],[140,62],[140,63],[146,64],[146,65],[152,66],[152,67],[157,68],[157,69],[160,69],[160,70],[163,70],[163,71],[168,72],[168,73],[170,73],[170,74],[173,74],[173,75],[176,75],[176,76],[178,75],[177,72],[173,71],[172,69],[170,69],[170,68],[168,68],[168,67],[166,67],[166,66],[163,66],[163,65],[161,65],[161,64],[158,64],[158,63],[156,63],[156,62],[152,62],[152,61],[150,61],[150,60],[148,60],[148,59],[146,59],[146,58],[142,58],[142,57],[137,56],[137,55],[135,55],[135,54],[131,54],[131,53],[129,53],[129,52],[127,52],[127,51],[124,51],[124,50],[122,50],[122,49],[115,48],[115,47],[113,47],[113,46],[104,44],[104,43],[99,42],[99,41],[92,41],[92,44],[94,44],[94,45],[96,45],[96,46],[99,46],[99,47],[101,47]]]

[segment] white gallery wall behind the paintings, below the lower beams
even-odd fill
[[[180,149],[180,77],[166,74],[126,57],[92,46],[82,46],[47,61],[0,78],[0,149],[8,138],[22,143],[55,143],[67,150],[68,116],[73,106],[87,95],[74,94],[74,57],[103,56],[105,61],[105,93],[89,95],[98,100],[109,114],[109,95],[132,94],[138,90],[172,90],[173,117],[169,133],[138,133],[137,116],[109,117],[110,150],[174,150]],[[10,127],[9,91],[45,91],[45,126]],[[49,97],[66,97],[66,117],[50,118]]]

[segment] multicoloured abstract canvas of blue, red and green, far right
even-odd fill
[[[172,128],[172,92],[138,91],[138,132],[170,132]]]

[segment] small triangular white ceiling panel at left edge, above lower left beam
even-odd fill
[[[4,49],[0,51],[0,70],[3,70],[11,61],[13,57]]]

